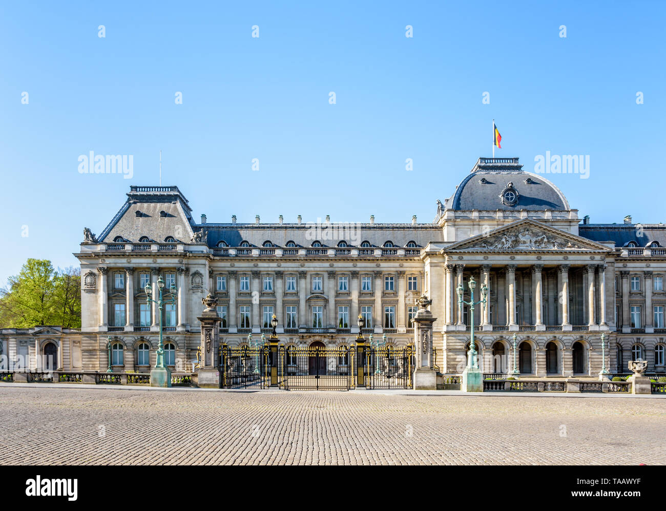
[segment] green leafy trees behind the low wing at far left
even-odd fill
[[[54,269],[47,259],[28,259],[7,284],[6,289],[0,289],[0,326],[81,327],[79,269]]]

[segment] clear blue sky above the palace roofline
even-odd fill
[[[76,264],[160,149],[209,222],[430,222],[495,118],[526,170],[589,154],[589,179],[546,176],[581,217],[666,222],[664,2],[310,4],[1,4],[0,285],[27,257]],[[132,154],[133,179],[79,174],[91,150]]]

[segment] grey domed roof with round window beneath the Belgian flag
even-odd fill
[[[447,202],[452,210],[569,210],[559,188],[524,172],[518,158],[479,158]]]

